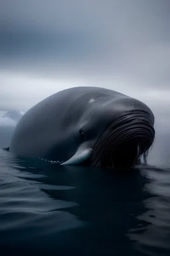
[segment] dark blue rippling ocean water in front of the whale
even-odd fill
[[[6,128],[0,148],[5,138]],[[169,256],[167,138],[155,141],[148,166],[122,173],[0,150],[0,255]]]

